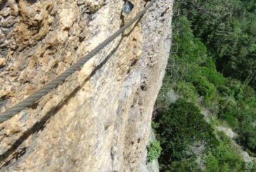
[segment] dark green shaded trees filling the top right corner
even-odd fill
[[[256,88],[256,1],[189,0],[181,4],[226,77]]]

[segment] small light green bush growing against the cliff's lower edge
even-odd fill
[[[158,157],[160,157],[162,148],[160,146],[160,142],[158,141],[153,141],[151,142],[148,147],[148,155],[147,155],[147,161],[151,162],[155,159],[158,159]]]

